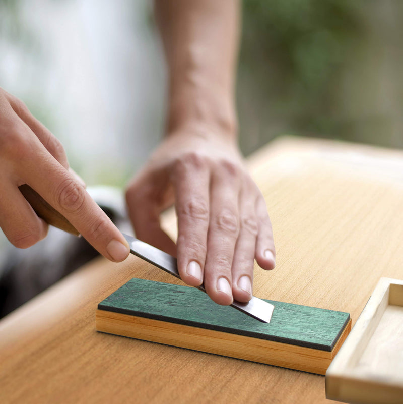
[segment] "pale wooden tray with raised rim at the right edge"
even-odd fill
[[[403,403],[403,280],[379,280],[326,372],[326,397]]]

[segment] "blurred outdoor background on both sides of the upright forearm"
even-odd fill
[[[281,134],[403,148],[403,2],[242,7],[245,155]],[[165,70],[151,2],[0,0],[0,36],[0,86],[62,140],[88,183],[123,186],[163,132]]]

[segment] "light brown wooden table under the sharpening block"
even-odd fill
[[[256,296],[354,324],[381,276],[403,278],[402,152],[284,137],[249,164],[277,248],[274,271],[255,267]],[[322,376],[97,333],[98,302],[132,277],[180,282],[97,259],[0,321],[0,402],[326,401]]]

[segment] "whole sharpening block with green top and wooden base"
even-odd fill
[[[96,329],[269,365],[325,374],[350,314],[267,300],[270,324],[219,306],[194,287],[133,278],[98,305]]]

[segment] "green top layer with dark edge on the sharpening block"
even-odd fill
[[[275,306],[262,323],[230,306],[214,303],[194,287],[133,278],[98,309],[331,351],[349,313],[266,300]]]

